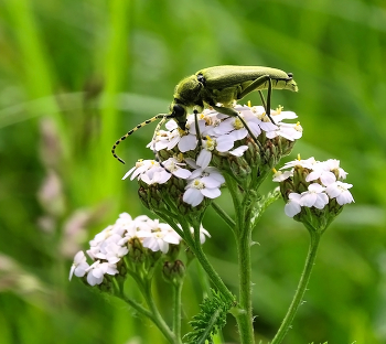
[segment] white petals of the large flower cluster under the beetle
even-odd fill
[[[267,139],[278,136],[290,141],[294,141],[302,136],[302,128],[299,123],[283,123],[283,119],[297,118],[292,111],[282,111],[281,108],[271,110],[271,116],[276,122],[274,125],[266,116],[262,106],[239,106],[235,107],[239,116],[249,127],[255,138],[261,132]],[[186,131],[178,128],[174,120],[165,123],[168,130],[160,130],[156,138],[148,144],[156,151],[174,150],[174,157],[162,161],[162,166],[154,160],[140,160],[124,180],[130,174],[130,180],[137,178],[148,185],[167,183],[172,175],[186,180],[183,201],[192,206],[199,205],[204,197],[215,198],[221,195],[219,187],[225,182],[221,172],[210,166],[214,153],[226,157],[242,157],[248,149],[243,141],[248,137],[247,129],[237,117],[229,117],[214,110],[205,109],[197,115],[199,130],[201,135],[201,146],[199,147],[197,132],[194,115],[187,116]],[[196,160],[183,159],[183,153],[200,149]],[[167,171],[167,170],[169,171]]]

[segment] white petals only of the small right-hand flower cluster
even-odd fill
[[[293,175],[293,168],[302,166],[308,169],[310,173],[305,176],[305,182],[310,183],[308,191],[302,193],[292,192],[288,195],[288,202],[285,207],[286,215],[293,217],[301,212],[302,206],[324,208],[330,200],[335,198],[339,205],[344,205],[354,202],[349,189],[353,185],[343,183],[347,173],[340,168],[340,161],[329,159],[326,161],[317,161],[314,158],[307,160],[294,160],[285,164],[274,175],[275,182],[283,182]],[[336,178],[337,175],[337,178]],[[320,182],[317,182],[320,181]],[[313,183],[312,183],[313,182]]]

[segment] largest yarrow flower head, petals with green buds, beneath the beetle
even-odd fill
[[[197,121],[194,115],[186,117],[185,131],[170,120],[165,123],[168,130],[156,133],[148,148],[157,151],[162,162],[139,160],[124,176],[139,181],[146,206],[154,206],[148,201],[152,196],[144,194],[151,185],[172,187],[169,193],[172,197],[179,200],[182,196],[182,201],[193,207],[205,198],[216,198],[225,183],[224,172],[246,178],[256,164],[275,165],[302,136],[299,123],[283,122],[297,115],[283,111],[281,107],[271,110],[275,123],[262,106],[236,105],[234,110],[239,117],[205,109],[197,115]],[[183,182],[175,182],[175,179]]]

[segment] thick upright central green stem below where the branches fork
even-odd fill
[[[250,240],[251,230],[246,230],[237,238],[238,251],[238,275],[239,275],[239,312],[236,313],[236,321],[242,344],[255,343],[253,326],[253,303],[251,303],[251,260]]]

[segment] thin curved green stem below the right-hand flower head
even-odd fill
[[[280,325],[280,329],[276,333],[271,344],[281,343],[281,341],[286,336],[289,327],[291,326],[293,318],[294,318],[294,315],[298,311],[298,308],[299,308],[299,305],[302,302],[302,299],[304,297],[304,292],[307,290],[307,286],[308,286],[308,282],[310,280],[311,271],[312,271],[315,258],[317,258],[319,243],[320,243],[320,239],[322,236],[321,233],[318,233],[318,232],[309,230],[309,233],[311,236],[311,240],[310,240],[309,251],[308,251],[307,259],[305,259],[304,269],[303,269],[303,272],[300,277],[298,289],[293,295],[291,305],[289,307],[287,314],[286,314],[286,316]]]

